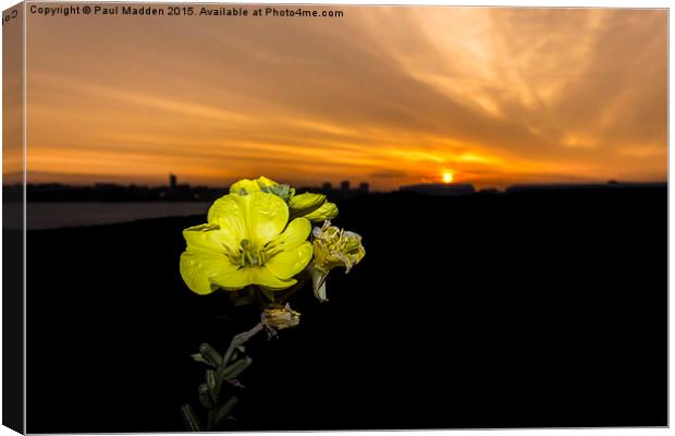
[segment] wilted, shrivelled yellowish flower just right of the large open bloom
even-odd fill
[[[342,230],[324,221],[323,227],[315,227],[314,263],[310,267],[315,295],[321,300],[326,298],[326,277],[335,267],[344,267],[349,272],[366,255],[361,244],[361,237],[351,231]]]

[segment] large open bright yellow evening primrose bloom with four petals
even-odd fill
[[[224,195],[213,203],[207,220],[183,231],[187,249],[181,255],[181,276],[196,293],[249,284],[286,289],[311,259],[309,220],[289,222],[289,207],[274,194]]]

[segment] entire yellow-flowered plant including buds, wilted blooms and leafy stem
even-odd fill
[[[212,432],[231,417],[238,399],[228,389],[243,386],[237,377],[250,365],[245,343],[253,336],[266,331],[272,338],[299,324],[300,314],[283,303],[302,288],[300,276],[311,278],[315,295],[326,301],[329,271],[344,267],[348,272],[364,258],[361,237],[331,226],[336,216],[338,206],[326,195],[296,194],[287,184],[260,177],[232,184],[229,194],[213,202],[206,223],[183,231],[187,246],[180,269],[192,291],[231,291],[235,304],[265,298],[260,322],[236,335],[224,354],[207,343],[193,354],[207,365],[198,392],[208,415],[204,427],[192,405],[184,404],[181,411],[191,431]],[[322,225],[312,230],[312,223]],[[282,294],[282,301],[275,294]]]

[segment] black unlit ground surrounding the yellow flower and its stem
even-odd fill
[[[250,344],[232,429],[667,424],[665,189],[343,202],[367,255]],[[191,293],[204,217],[28,232],[30,433],[183,431],[256,315]],[[5,255],[8,255],[5,253]]]

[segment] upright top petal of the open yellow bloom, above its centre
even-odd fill
[[[271,241],[289,222],[289,206],[274,194],[254,192],[238,198],[244,205],[247,238],[257,246]]]

